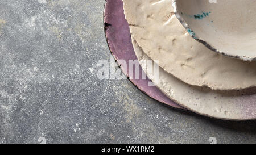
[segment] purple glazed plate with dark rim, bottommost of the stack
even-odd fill
[[[134,53],[133,44],[131,43],[129,24],[125,19],[125,14],[123,13],[123,2],[121,0],[106,0],[104,24],[106,40],[108,42],[110,52],[114,56],[118,65],[121,66],[123,73],[128,78],[135,77],[135,72],[129,73],[128,65],[129,60],[137,60],[137,57]],[[124,60],[128,65],[123,65],[123,61],[119,60]],[[124,69],[124,66],[127,66],[127,69]],[[140,73],[143,72],[141,67],[139,69]],[[157,87],[149,86],[148,82],[151,82],[150,79],[130,79],[130,81],[149,97],[154,98],[167,106],[185,110],[185,108],[179,106],[166,97],[166,95],[164,95]]]

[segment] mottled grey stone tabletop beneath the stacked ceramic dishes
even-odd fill
[[[127,79],[98,79],[104,3],[0,1],[0,143],[256,142],[255,121],[173,110]]]

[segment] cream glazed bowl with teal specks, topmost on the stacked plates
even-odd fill
[[[189,34],[212,51],[256,60],[255,0],[173,0]]]

